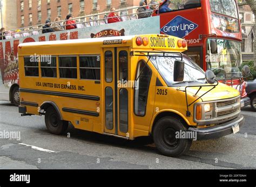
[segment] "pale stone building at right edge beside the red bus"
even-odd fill
[[[239,17],[242,25],[242,60],[253,60],[253,40],[254,40],[254,14],[250,6],[239,7]]]

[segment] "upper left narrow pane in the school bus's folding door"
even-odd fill
[[[113,54],[111,51],[105,52],[105,81],[113,80]]]

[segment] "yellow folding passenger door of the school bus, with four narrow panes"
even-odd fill
[[[104,133],[129,137],[129,48],[104,48]]]

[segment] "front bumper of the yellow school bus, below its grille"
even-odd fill
[[[220,125],[216,125],[213,127],[206,127],[206,128],[188,128],[188,131],[196,132],[197,140],[209,140],[209,139],[226,136],[228,134],[232,134],[233,133],[232,127],[235,126],[235,124],[238,124],[240,128],[242,125],[244,125],[244,123],[245,123],[244,116],[239,115],[234,120],[228,121]]]

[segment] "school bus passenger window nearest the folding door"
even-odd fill
[[[79,56],[80,79],[100,80],[100,56]]]

